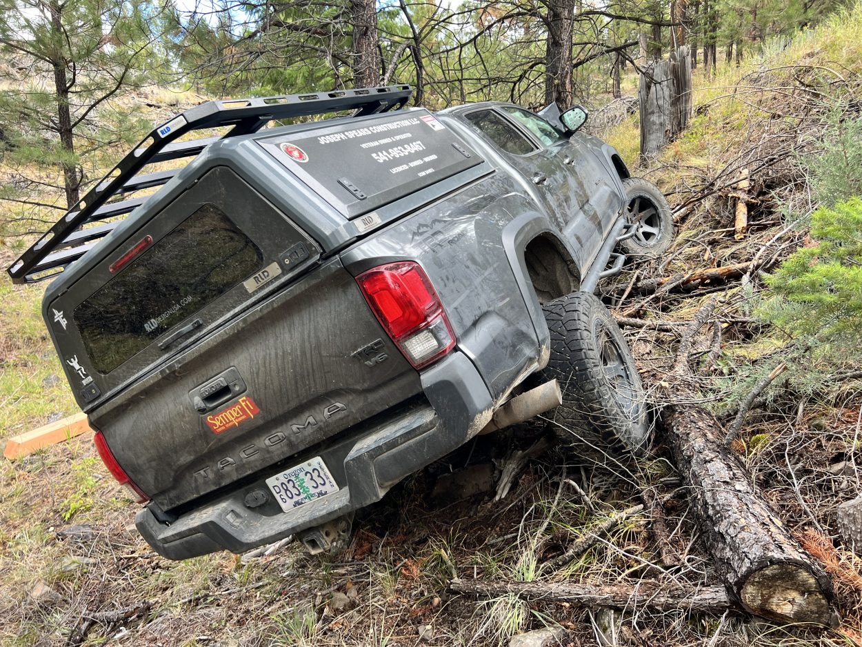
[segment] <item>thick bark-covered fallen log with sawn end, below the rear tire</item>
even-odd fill
[[[674,393],[691,393],[675,386]],[[832,581],[760,498],[715,418],[694,405],[663,415],[671,453],[688,483],[703,542],[728,593],[747,612],[782,622],[836,626]]]

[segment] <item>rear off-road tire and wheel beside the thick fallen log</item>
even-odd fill
[[[551,353],[541,378],[558,380],[563,392],[563,404],[549,415],[564,448],[597,462],[640,453],[649,431],[645,396],[614,317],[587,292],[542,309]]]

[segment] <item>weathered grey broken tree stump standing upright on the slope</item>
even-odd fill
[[[640,75],[640,158],[656,154],[673,141],[691,115],[691,54],[678,47]]]

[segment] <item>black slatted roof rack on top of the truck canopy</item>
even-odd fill
[[[80,229],[82,225],[129,214],[147,200],[126,198],[121,202],[106,204],[110,198],[165,185],[181,170],[178,168],[138,175],[144,166],[184,158],[191,160],[215,141],[256,132],[275,119],[322,115],[341,110],[356,110],[353,116],[397,110],[407,104],[412,93],[413,89],[409,85],[390,85],[282,97],[209,101],[185,110],[153,129],[78,204],[24,252],[7,272],[15,283],[34,283],[52,278],[86,254],[98,239],[107,236],[122,221],[103,223],[88,229]],[[193,130],[222,126],[233,128],[223,136],[175,142]],[[57,272],[50,273],[53,269]]]

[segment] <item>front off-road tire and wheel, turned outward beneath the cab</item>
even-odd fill
[[[626,217],[635,234],[620,242],[622,251],[633,256],[655,258],[673,241],[671,206],[659,187],[643,178],[622,180],[626,189]]]

